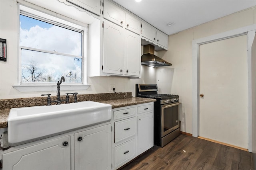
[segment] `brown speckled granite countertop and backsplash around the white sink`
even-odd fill
[[[112,109],[118,108],[118,107],[124,107],[124,106],[132,106],[136,104],[144,104],[149,102],[154,102],[156,99],[150,99],[150,98],[134,98],[131,96],[131,92],[122,93],[118,96],[115,96],[117,94],[88,94],[88,95],[80,95],[78,96],[78,101],[87,101],[91,100],[94,102],[100,102],[105,104],[112,105]],[[38,98],[35,101],[38,102]],[[30,107],[32,106],[43,106],[46,105],[45,102],[47,101],[46,98],[42,99],[40,98],[39,101],[44,101],[42,104],[34,103],[34,100],[31,100],[31,98],[27,99],[11,99],[11,100],[1,100],[2,105],[0,106],[0,128],[7,127],[7,120],[9,116],[9,112],[11,108],[15,107]],[[15,105],[14,102],[17,104]],[[72,101],[71,101],[72,102]],[[47,102],[46,102],[47,103]],[[5,106],[8,104],[10,108],[6,108]],[[29,105],[28,105],[29,104]]]

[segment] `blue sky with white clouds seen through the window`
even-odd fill
[[[20,15],[21,46],[81,56],[81,40],[82,34],[77,31]],[[61,76],[66,76],[69,72],[76,73],[80,77],[79,81],[82,81],[82,60],[74,59],[74,57],[22,50],[21,63],[23,68],[28,66],[31,61],[37,63],[37,66],[44,70],[44,76],[52,76],[55,81]],[[24,74],[29,76],[29,72],[24,71]],[[72,82],[73,80],[70,78],[67,77],[66,82]]]

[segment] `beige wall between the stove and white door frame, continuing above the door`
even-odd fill
[[[181,131],[192,133],[192,40],[256,23],[256,7],[192,27],[169,36],[168,51],[159,57],[172,63],[172,94],[180,95]]]

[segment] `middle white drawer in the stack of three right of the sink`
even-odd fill
[[[116,121],[114,123],[114,128],[115,143],[135,136],[137,131],[136,118],[132,117],[125,120]]]

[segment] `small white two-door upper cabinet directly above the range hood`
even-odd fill
[[[146,41],[154,45],[155,50],[168,49],[168,35],[162,33],[161,31],[158,31],[156,28],[149,25],[148,23],[142,22],[141,36],[142,39],[145,39]],[[149,43],[142,43],[142,45],[147,45]],[[156,47],[156,45],[158,47]]]

